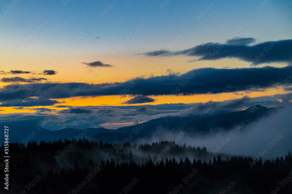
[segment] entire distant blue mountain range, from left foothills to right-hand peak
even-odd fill
[[[282,107],[279,107],[282,108]],[[244,111],[232,112],[222,115],[203,115],[189,117],[163,117],[153,119],[145,123],[129,127],[121,127],[116,130],[105,128],[87,128],[87,129],[73,129],[65,128],[57,131],[50,131],[48,129],[40,129],[37,131],[32,128],[15,129],[11,131],[10,140],[16,140],[19,142],[27,143],[32,141],[54,141],[64,140],[72,138],[90,138],[91,140],[102,140],[107,142],[122,142],[127,137],[131,137],[131,140],[137,140],[139,138],[151,138],[155,136],[161,136],[169,132],[179,134],[179,131],[184,130],[189,136],[209,133],[211,130],[214,132],[219,129],[228,130],[239,122],[249,124],[264,116],[270,115],[276,112],[279,108],[267,108],[265,106],[256,105],[252,106]],[[33,132],[34,131],[34,132]],[[132,142],[132,141],[131,141]]]

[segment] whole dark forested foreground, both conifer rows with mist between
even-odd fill
[[[64,147],[74,144],[67,159],[55,160],[55,154]],[[21,149],[20,147],[21,146]],[[213,156],[208,161],[191,158],[191,153],[206,152],[205,147],[191,147],[171,141],[131,145],[126,143],[116,152],[119,144],[90,141],[87,139],[62,140],[39,144],[35,141],[27,145],[13,142],[9,144],[9,180],[15,193],[290,193],[292,190],[292,155],[273,160],[254,159],[247,156],[222,158]],[[121,147],[121,146],[120,146]],[[184,153],[183,158],[161,157],[154,159],[150,153]],[[1,147],[3,153],[4,147]],[[127,149],[124,149],[127,148]],[[95,155],[81,155],[90,150]],[[132,153],[132,151],[133,153]],[[135,150],[135,151],[134,151]],[[139,150],[139,152],[137,152]],[[14,153],[13,153],[14,152]],[[107,153],[106,155],[101,153]],[[121,152],[127,153],[125,160],[119,161]],[[138,162],[138,155],[148,155],[145,162]],[[149,154],[147,154],[149,153]],[[70,155],[69,155],[70,154]],[[86,156],[86,157],[84,157]],[[109,156],[109,158],[108,158]],[[93,159],[90,159],[93,157]],[[99,160],[98,158],[103,157]],[[191,158],[191,159],[190,159]],[[3,163],[0,157],[0,165]],[[1,170],[1,177],[4,171]],[[40,181],[33,183],[36,177]],[[3,179],[0,184],[3,185]],[[27,184],[32,186],[27,186]],[[1,190],[0,190],[1,193]]]

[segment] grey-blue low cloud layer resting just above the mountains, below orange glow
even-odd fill
[[[279,99],[285,98],[286,101],[280,102]],[[263,105],[268,108],[288,106],[291,104],[292,93],[290,94],[277,94],[274,96],[266,97],[244,97],[233,100],[226,100],[222,102],[206,102],[206,103],[193,103],[193,104],[159,104],[159,105],[140,105],[140,106],[83,106],[72,107],[64,105],[56,105],[56,108],[65,108],[64,110],[56,111],[54,108],[25,108],[27,106],[36,106],[41,104],[43,106],[52,106],[57,101],[53,100],[40,100],[30,98],[25,102],[17,102],[16,109],[31,109],[36,110],[36,113],[13,113],[1,111],[1,122],[11,124],[11,126],[19,124],[36,124],[41,123],[44,117],[49,115],[51,118],[46,125],[46,129],[57,130],[63,128],[77,128],[83,129],[86,127],[99,127],[103,123],[130,123],[130,122],[145,122],[148,120],[168,117],[180,116],[190,117],[201,115],[219,115],[231,113],[235,111],[245,110],[251,106]],[[13,101],[11,101],[13,102]],[[9,103],[9,102],[8,102]],[[9,104],[1,104],[0,106],[9,106]],[[131,124],[129,124],[131,125]],[[121,127],[119,124],[110,125],[106,128],[117,129]]]

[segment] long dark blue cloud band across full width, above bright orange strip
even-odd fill
[[[33,83],[11,84],[0,89],[0,102],[9,101],[23,94],[39,99],[67,98],[102,95],[172,95],[216,94],[222,92],[263,91],[282,84],[291,76],[292,66],[216,69],[201,68],[180,75],[135,78],[131,81],[88,83]],[[285,87],[291,86],[292,81]],[[33,85],[33,86],[31,86]],[[33,89],[26,90],[26,87]],[[8,103],[9,104],[9,103]],[[3,105],[2,105],[3,106]]]

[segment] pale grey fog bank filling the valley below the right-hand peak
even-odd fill
[[[261,118],[251,124],[240,124],[226,131],[208,135],[185,134],[176,143],[188,146],[206,147],[208,152],[258,156],[263,159],[276,159],[292,151],[292,106],[279,109],[277,113]],[[184,129],[181,129],[183,131]],[[178,132],[163,133],[159,130],[151,139],[140,139],[138,143],[152,143],[159,140],[175,140]],[[131,143],[131,142],[130,142]],[[264,150],[265,149],[265,150]],[[262,152],[262,153],[261,153]]]

